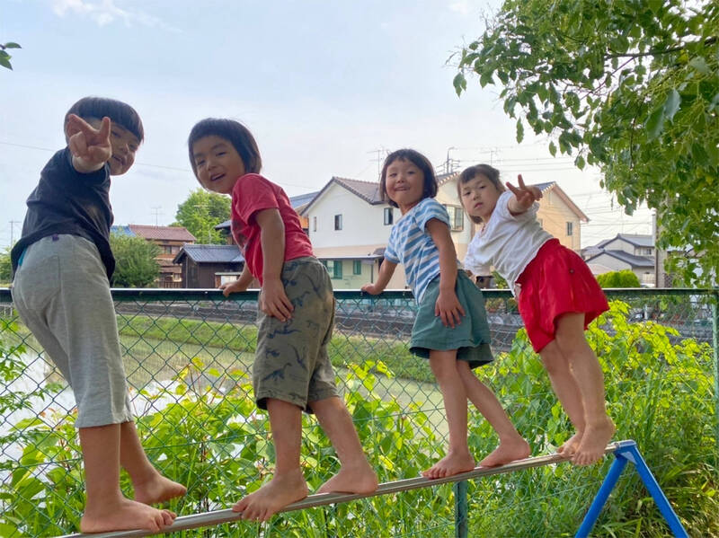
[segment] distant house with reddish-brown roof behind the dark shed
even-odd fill
[[[155,260],[160,265],[156,287],[182,287],[182,274],[173,258],[186,243],[195,243],[195,236],[182,226],[124,225],[112,226],[112,234],[138,236],[155,243],[160,253]]]

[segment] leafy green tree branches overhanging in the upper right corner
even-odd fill
[[[719,4],[711,0],[507,0],[461,52],[501,84],[505,112],[551,136],[549,151],[596,165],[628,214],[656,211],[657,246],[687,283],[719,267]],[[700,270],[697,270],[700,269]]]

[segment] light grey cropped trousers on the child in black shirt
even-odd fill
[[[75,427],[132,420],[110,284],[94,243],[69,234],[32,243],[12,294],[22,321],[75,392]]]

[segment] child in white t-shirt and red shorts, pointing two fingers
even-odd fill
[[[482,225],[470,243],[466,269],[489,274],[493,266],[517,297],[534,350],[542,357],[555,393],[576,433],[558,452],[589,465],[604,454],[615,426],[607,415],[599,360],[584,338],[587,325],[608,310],[584,260],[537,222],[542,193],[507,183],[488,164],[467,168],[457,181],[462,206]]]

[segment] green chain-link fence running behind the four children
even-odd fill
[[[719,426],[715,291],[608,290],[609,313],[587,332],[606,375],[617,439],[634,438],[690,535],[719,534]],[[266,414],[256,410],[251,367],[256,294],[113,290],[131,399],[146,452],[188,487],[170,507],[187,515],[229,507],[272,472]],[[407,348],[408,292],[336,291],[330,355],[380,481],[417,476],[445,453],[441,394],[426,361]],[[532,454],[554,452],[571,426],[532,353],[507,291],[484,293],[496,360],[477,375],[497,393]],[[88,305],[92,307],[92,305]],[[75,404],[65,380],[16,318],[0,289],[0,537],[77,529],[84,507]],[[311,489],[339,463],[314,418],[303,418],[302,464]],[[497,444],[470,407],[469,444],[480,459]],[[470,536],[573,535],[607,461],[540,467],[468,486]],[[131,495],[123,475],[122,487]],[[183,532],[187,536],[449,536],[449,485],[346,505]],[[663,536],[661,516],[626,476],[597,535]]]

